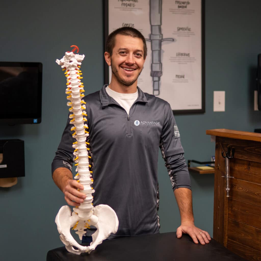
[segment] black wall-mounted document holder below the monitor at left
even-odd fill
[[[25,176],[25,147],[24,141],[19,139],[0,140],[0,178]]]

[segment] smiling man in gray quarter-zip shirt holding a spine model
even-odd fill
[[[137,79],[147,55],[143,35],[131,27],[112,32],[105,60],[111,66],[109,86],[85,96],[93,162],[94,206],[107,204],[119,219],[111,237],[159,233],[157,215],[158,147],[166,162],[180,210],[177,237],[187,233],[197,244],[209,243],[206,231],[194,226],[192,193],[184,151],[170,105],[143,93]],[[69,205],[79,206],[85,195],[73,180],[72,133],[69,119],[52,163],[53,179]],[[87,230],[86,235],[91,236]],[[87,237],[86,237],[87,238]]]

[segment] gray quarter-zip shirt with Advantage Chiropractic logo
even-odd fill
[[[173,190],[191,189],[172,110],[169,103],[138,87],[138,98],[127,114],[106,93],[105,87],[84,97],[95,189],[93,205],[107,204],[116,212],[119,227],[110,238],[159,233],[159,148]],[[52,173],[59,167],[72,168],[75,140],[69,120],[52,163]],[[92,233],[87,231],[86,235]]]

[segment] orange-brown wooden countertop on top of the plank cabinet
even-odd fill
[[[207,135],[226,137],[240,140],[254,140],[261,142],[261,133],[246,132],[246,131],[235,131],[229,129],[212,129],[206,130]]]

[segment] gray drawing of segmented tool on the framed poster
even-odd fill
[[[150,39],[151,42],[152,63],[150,76],[153,81],[153,95],[159,95],[160,79],[162,76],[161,63],[161,42],[173,41],[174,38],[164,38],[161,33],[161,15],[162,15],[162,0],[150,0]]]

